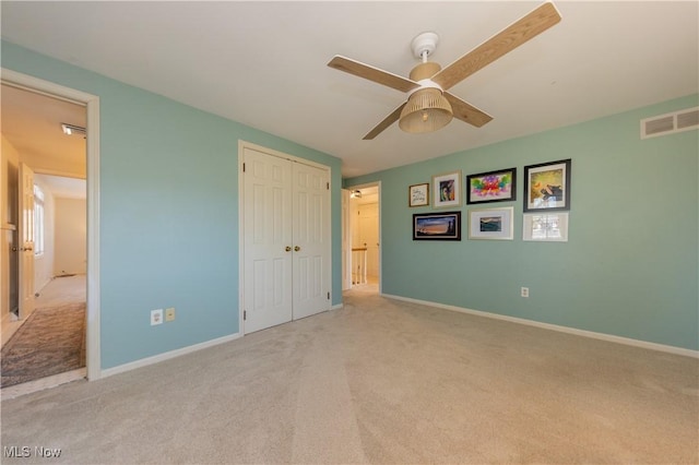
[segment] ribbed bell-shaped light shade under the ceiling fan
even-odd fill
[[[441,90],[427,87],[410,96],[398,124],[405,132],[419,134],[437,131],[449,124],[452,118],[451,105]]]

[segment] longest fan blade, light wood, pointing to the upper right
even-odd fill
[[[446,91],[559,21],[556,7],[544,3],[439,71],[431,80]]]

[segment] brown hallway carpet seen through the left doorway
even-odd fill
[[[85,303],[34,310],[2,347],[0,386],[85,366]]]

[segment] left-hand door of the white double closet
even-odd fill
[[[245,332],[292,321],[292,187],[288,160],[246,148]]]

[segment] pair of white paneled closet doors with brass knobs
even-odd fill
[[[242,145],[244,333],[330,309],[330,169]]]

